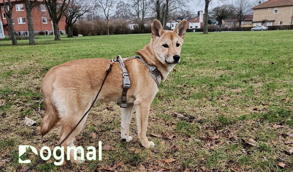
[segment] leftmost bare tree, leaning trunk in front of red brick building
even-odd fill
[[[13,6],[16,2],[17,2],[17,0],[13,1],[13,3],[11,3],[10,0],[3,0],[5,15],[8,18],[8,27],[9,27],[10,37],[12,40],[12,45],[17,45],[16,35],[14,32],[13,21],[12,21],[12,10],[13,10]],[[7,7],[8,7],[8,9],[7,9]]]

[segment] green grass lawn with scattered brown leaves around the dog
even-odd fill
[[[150,39],[40,36],[35,46],[0,41],[0,171],[31,165],[18,163],[18,145],[59,143],[59,125],[46,142],[39,130],[41,82],[50,68],[74,59],[133,56]],[[121,141],[120,108],[98,102],[74,144],[103,141],[103,160],[62,166],[48,161],[33,171],[292,171],[293,31],[187,33],[181,57],[151,105],[147,136],[154,148],[141,146],[134,114],[133,140]],[[24,117],[37,125],[26,126]]]

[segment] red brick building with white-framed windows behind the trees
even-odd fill
[[[13,28],[17,36],[27,36],[28,35],[28,24],[26,18],[26,10],[25,10],[25,3],[24,1],[17,1],[14,3],[13,11],[12,11],[12,18],[13,18]],[[7,3],[6,3],[7,5]],[[0,0],[0,20],[3,23],[4,34],[9,35],[9,27],[8,27],[8,18],[6,17],[4,11],[4,4],[3,0]],[[33,16],[33,25],[35,34],[39,34],[41,31],[45,32],[46,34],[53,34],[51,18],[49,16],[47,7],[45,4],[40,4],[35,6],[32,9],[32,16]],[[61,20],[59,21],[59,30],[60,33],[65,33],[65,17],[62,16]]]

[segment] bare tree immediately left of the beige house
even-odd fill
[[[249,0],[237,0],[235,2],[235,13],[237,21],[239,22],[239,27],[241,27],[241,22],[246,18],[246,16],[252,13],[251,8]]]

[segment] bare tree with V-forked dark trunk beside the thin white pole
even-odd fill
[[[53,22],[54,28],[54,40],[61,40],[60,31],[59,31],[59,21],[62,17],[64,10],[67,8],[67,5],[70,3],[70,0],[45,0],[49,16]]]

